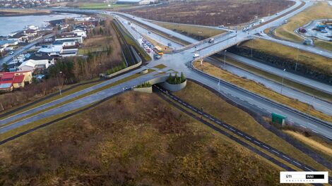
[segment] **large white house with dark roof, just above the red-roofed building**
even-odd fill
[[[46,53],[29,54],[23,63],[18,66],[19,71],[40,72],[54,65],[54,57]]]

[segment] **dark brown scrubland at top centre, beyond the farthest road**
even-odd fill
[[[253,20],[255,16],[263,17],[292,6],[293,1],[283,0],[203,0],[203,1],[170,1],[161,6],[131,8],[123,12],[170,23],[194,25],[236,25]]]

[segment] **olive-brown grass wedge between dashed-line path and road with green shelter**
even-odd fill
[[[203,107],[203,111],[206,111],[212,116],[256,137],[262,142],[271,145],[271,147],[275,147],[275,149],[283,151],[285,154],[288,154],[309,166],[313,166],[317,170],[328,170],[324,166],[321,166],[321,164],[316,163],[314,159],[303,154],[302,151],[296,149],[269,130],[266,130],[266,128],[257,123],[248,113],[228,104],[220,97],[208,91],[208,89],[189,81],[187,82],[185,89],[174,94],[196,108]]]

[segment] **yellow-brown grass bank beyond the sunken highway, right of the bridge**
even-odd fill
[[[278,56],[280,58],[296,61],[297,49],[284,46],[275,42],[270,42],[265,39],[254,39],[250,42],[244,42],[242,46],[251,48],[251,45],[256,51],[263,52],[270,56]],[[324,56],[309,53],[307,51],[300,51],[299,64],[307,66],[311,70],[315,70],[327,75],[332,75],[332,59]]]

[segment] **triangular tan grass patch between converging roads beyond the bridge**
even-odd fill
[[[153,23],[155,23],[156,25],[160,25],[161,27],[173,30],[175,32],[179,32],[182,35],[186,35],[188,37],[194,37],[195,39],[199,40],[206,39],[208,37],[213,37],[215,35],[220,35],[226,32],[225,30],[213,29],[211,27],[172,24],[172,23],[157,22],[157,21],[153,21]]]

